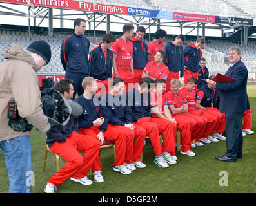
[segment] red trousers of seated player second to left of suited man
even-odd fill
[[[218,121],[217,117],[214,117],[213,115],[210,115],[201,109],[192,110],[190,113],[199,118],[205,118],[207,121],[206,128],[204,129],[201,138],[208,138],[209,135],[213,135]],[[200,142],[200,140],[196,140],[196,142]]]

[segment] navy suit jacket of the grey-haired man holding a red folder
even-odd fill
[[[248,71],[243,62],[236,62],[225,73],[235,79],[233,82],[216,83],[219,92],[219,109],[223,113],[242,113],[248,109]]]

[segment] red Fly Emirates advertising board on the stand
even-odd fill
[[[127,15],[126,6],[105,5],[86,1],[76,0],[3,0],[6,3],[15,3],[19,5],[44,6],[50,8],[64,8],[71,10],[83,10],[90,12],[101,12],[108,14]]]

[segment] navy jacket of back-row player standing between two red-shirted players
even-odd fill
[[[131,39],[133,43],[133,68],[144,69],[148,64],[148,45],[144,41],[139,41],[135,36]]]

